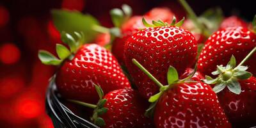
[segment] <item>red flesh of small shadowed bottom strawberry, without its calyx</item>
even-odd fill
[[[101,117],[105,127],[153,127],[149,118],[144,116],[148,102],[131,88],[115,90],[104,96],[107,113]]]

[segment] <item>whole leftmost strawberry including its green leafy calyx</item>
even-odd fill
[[[70,51],[57,44],[56,51],[60,59],[46,51],[40,51],[38,54],[46,65],[61,65],[55,80],[61,96],[66,99],[97,102],[97,93],[92,83],[102,85],[105,92],[129,86],[120,65],[109,51],[97,44],[81,45],[83,35],[74,34],[77,35],[77,40],[68,33],[62,36]]]

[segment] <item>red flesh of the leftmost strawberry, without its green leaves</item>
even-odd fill
[[[56,74],[58,91],[66,99],[95,103],[99,84],[108,93],[129,86],[115,57],[104,47],[85,44],[72,60],[66,60]]]

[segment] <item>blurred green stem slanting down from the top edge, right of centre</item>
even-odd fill
[[[199,22],[198,17],[196,16],[196,13],[192,10],[192,8],[189,6],[189,4],[185,0],[179,0],[179,3],[182,4],[184,9],[190,16],[191,20],[195,24],[195,26],[197,26],[197,28],[199,28],[205,36],[207,36],[207,37],[210,36],[209,31],[207,31],[207,29],[204,27],[204,25]]]

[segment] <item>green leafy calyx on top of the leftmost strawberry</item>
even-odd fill
[[[54,56],[48,51],[40,50],[38,52],[38,58],[45,65],[61,65],[61,63],[67,58],[72,60],[79,47],[84,44],[84,35],[82,32],[74,32],[73,35],[75,36],[65,32],[61,33],[61,40],[68,45],[69,49],[62,44],[56,44],[56,52],[58,57]]]

